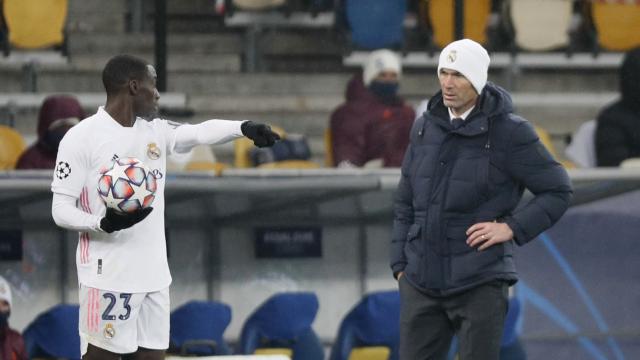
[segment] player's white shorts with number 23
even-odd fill
[[[169,288],[119,293],[80,285],[80,351],[88,344],[116,354],[169,347]]]

